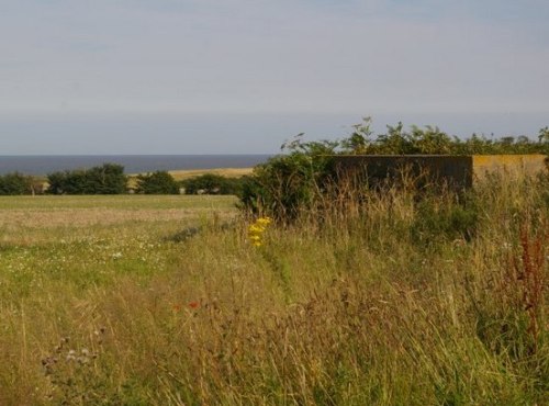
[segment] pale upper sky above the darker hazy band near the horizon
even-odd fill
[[[0,113],[544,113],[548,18],[541,0],[0,0]]]

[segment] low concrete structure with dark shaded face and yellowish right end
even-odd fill
[[[446,183],[471,188],[489,172],[535,173],[546,167],[545,155],[348,155],[334,156],[341,176],[359,176],[370,184],[402,179],[402,173],[422,183]]]

